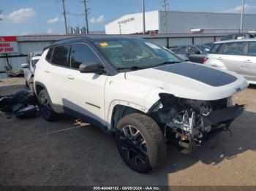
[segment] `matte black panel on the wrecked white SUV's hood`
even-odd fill
[[[215,87],[228,85],[235,82],[237,79],[233,75],[227,74],[224,71],[211,69],[194,63],[178,63],[168,66],[160,66],[154,69],[179,74]]]

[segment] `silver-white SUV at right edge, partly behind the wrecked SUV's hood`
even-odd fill
[[[235,71],[256,84],[256,39],[215,42],[204,64]]]

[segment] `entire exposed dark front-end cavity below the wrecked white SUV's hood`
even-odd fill
[[[232,106],[231,98],[197,101],[160,94],[151,115],[162,127],[166,139],[172,134],[186,153],[191,152],[212,130],[228,130],[244,111],[244,105]]]

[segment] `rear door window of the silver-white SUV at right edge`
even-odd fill
[[[244,46],[246,42],[227,42],[223,47],[225,55],[244,55]]]

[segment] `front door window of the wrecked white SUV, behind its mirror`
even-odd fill
[[[97,55],[86,44],[72,45],[70,62],[72,69],[79,69],[81,63],[100,63]]]

